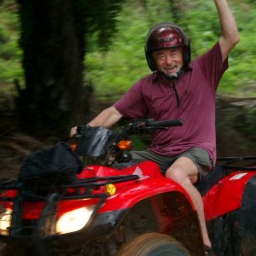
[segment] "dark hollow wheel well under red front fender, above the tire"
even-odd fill
[[[181,242],[191,255],[203,254],[197,212],[180,191],[168,191],[139,201],[126,211],[118,226],[125,232],[124,242],[143,233],[159,232]]]

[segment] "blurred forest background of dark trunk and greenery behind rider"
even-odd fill
[[[256,2],[229,0],[241,40],[217,96],[219,156],[256,154]],[[0,167],[67,138],[150,73],[145,36],[179,24],[192,57],[220,36],[214,0],[0,0]]]

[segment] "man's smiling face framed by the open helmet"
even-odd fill
[[[182,48],[169,48],[153,52],[157,70],[167,76],[176,76],[183,66]]]

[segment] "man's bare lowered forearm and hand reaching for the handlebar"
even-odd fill
[[[111,127],[113,124],[118,122],[122,117],[114,106],[110,106],[110,108],[103,110],[99,113],[92,121],[88,123],[90,126],[104,126],[104,127]],[[76,127],[72,127],[70,131],[70,137],[73,137],[76,134]]]

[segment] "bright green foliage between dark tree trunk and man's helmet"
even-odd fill
[[[123,4],[109,51],[93,48],[86,56],[87,80],[92,81],[97,95],[119,96],[150,73],[144,57],[145,36],[153,24],[170,19],[167,9],[166,1],[148,0],[144,6],[135,0]],[[95,37],[89,45],[95,46]]]

